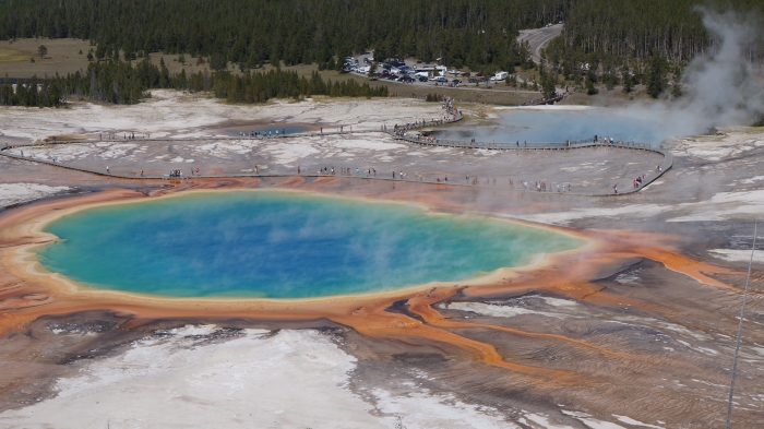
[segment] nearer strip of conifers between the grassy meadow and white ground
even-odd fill
[[[295,71],[273,69],[267,72],[248,71],[232,74],[228,71],[187,74],[170,73],[164,60],[159,65],[146,57],[134,65],[128,61],[92,62],[84,72],[65,76],[12,80],[0,84],[0,105],[26,107],[59,107],[69,98],[100,103],[135,104],[151,97],[150,90],[174,88],[189,92],[211,92],[231,103],[265,103],[272,98],[302,98],[312,95],[330,97],[386,97],[386,86],[359,84],[354,80],[324,81],[319,72],[310,78]]]

